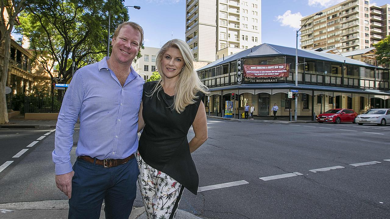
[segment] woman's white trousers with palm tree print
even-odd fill
[[[136,154],[140,175],[138,184],[148,219],[174,219],[184,186],[145,163]]]

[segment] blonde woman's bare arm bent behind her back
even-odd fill
[[[195,116],[195,120],[192,123],[192,128],[195,133],[190,141],[190,152],[194,152],[207,140],[207,118],[206,111],[202,101],[200,101],[198,112]]]

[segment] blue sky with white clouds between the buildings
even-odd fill
[[[262,0],[261,43],[295,48],[295,34],[300,19],[321,11],[343,0]],[[384,5],[390,0],[370,0],[370,4]],[[172,38],[185,40],[186,0],[126,0],[130,21],[144,28],[144,46],[160,48]],[[298,42],[299,44],[299,42]]]

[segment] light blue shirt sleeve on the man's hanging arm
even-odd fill
[[[52,153],[55,164],[55,174],[71,172],[70,152],[73,147],[74,124],[78,120],[84,99],[82,73],[77,71],[67,88],[55,129],[55,143]]]

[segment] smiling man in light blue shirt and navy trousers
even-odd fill
[[[138,177],[138,111],[144,79],[131,67],[144,31],[134,22],[118,26],[111,57],[79,69],[67,89],[55,132],[55,182],[69,198],[68,218],[128,219]],[[73,129],[80,116],[77,160],[70,162]]]

